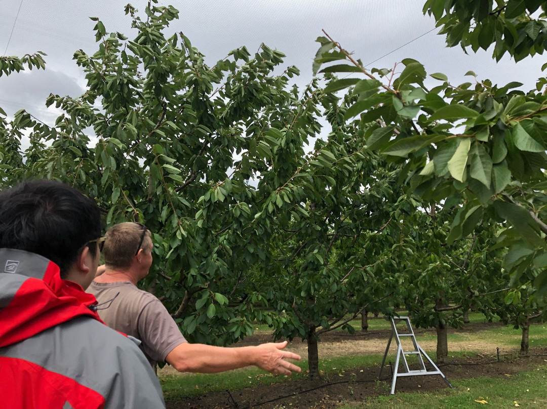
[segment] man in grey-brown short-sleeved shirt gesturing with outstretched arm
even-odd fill
[[[136,285],[152,265],[150,231],[138,223],[121,223],[106,233],[104,272],[95,278],[88,292],[98,302],[109,302],[98,311],[101,319],[124,334],[142,341],[150,364],[166,361],[179,372],[214,373],[255,365],[271,373],[290,375],[300,367],[287,359],[300,356],[283,350],[287,342],[224,348],[191,344],[162,303]]]

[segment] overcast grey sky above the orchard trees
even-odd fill
[[[22,56],[40,50],[48,56],[45,71],[0,78],[0,107],[8,115],[26,108],[44,121],[53,121],[57,113],[44,106],[50,92],[74,97],[84,92],[83,73],[72,55],[78,49],[89,54],[97,49],[92,31],[95,22],[89,16],[99,17],[107,32],[119,31],[131,38],[131,21],[124,15],[127,1],[3,0],[0,52]],[[520,81],[525,90],[535,86],[544,63],[542,56],[519,63],[504,57],[496,64],[489,51],[465,55],[459,46],[446,48],[444,36],[433,30],[434,20],[422,14],[424,2],[172,0],[160,4],[172,4],[180,11],[180,19],[170,31],[184,32],[206,55],[207,63],[213,64],[238,46],[254,52],[265,43],[287,55],[285,65],[300,68],[300,78],[295,80],[299,84],[312,78],[312,59],[318,49],[315,39],[324,29],[365,65],[374,62],[368,68],[392,68],[395,62],[410,57],[422,62],[428,73],[445,73],[452,84],[472,81],[463,76],[472,70],[479,79],[490,78],[493,83]],[[143,15],[146,1],[131,4]]]

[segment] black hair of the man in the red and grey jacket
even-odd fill
[[[85,244],[101,236],[94,200],[54,180],[28,180],[0,192],[0,248],[36,253],[65,278]],[[88,245],[92,256],[97,243]]]

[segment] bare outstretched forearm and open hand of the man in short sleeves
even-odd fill
[[[249,365],[258,366],[275,375],[300,372],[300,367],[287,361],[300,360],[300,355],[284,351],[286,346],[287,341],[238,348],[184,342],[174,347],[165,360],[179,372],[216,373]]]

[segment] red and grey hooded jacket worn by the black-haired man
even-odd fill
[[[96,302],[54,262],[0,249],[0,406],[165,408],[147,359],[102,323]]]

